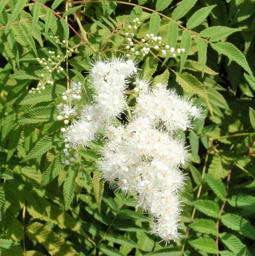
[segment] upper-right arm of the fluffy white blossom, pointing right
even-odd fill
[[[191,119],[200,118],[200,110],[192,105],[192,101],[168,90],[166,84],[157,83],[155,88],[148,89],[146,82],[139,81],[139,86],[141,83],[146,89],[137,98],[137,115],[147,117],[156,124],[163,123],[170,132],[191,128]]]

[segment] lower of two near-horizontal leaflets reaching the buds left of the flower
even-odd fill
[[[42,106],[32,108],[25,114],[18,117],[18,123],[33,124],[40,122],[56,121],[57,110],[56,106]]]

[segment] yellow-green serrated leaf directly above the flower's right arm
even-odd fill
[[[176,82],[187,93],[194,93],[201,96],[204,99],[208,99],[208,95],[205,86],[192,74],[187,72],[176,73]]]

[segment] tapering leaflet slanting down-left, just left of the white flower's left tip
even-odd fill
[[[22,162],[25,162],[29,159],[37,158],[42,156],[44,153],[46,153],[49,149],[52,148],[54,141],[54,136],[52,134],[45,135],[43,138],[41,138],[36,145],[33,147],[33,149],[27,154],[26,158],[22,160]]]

